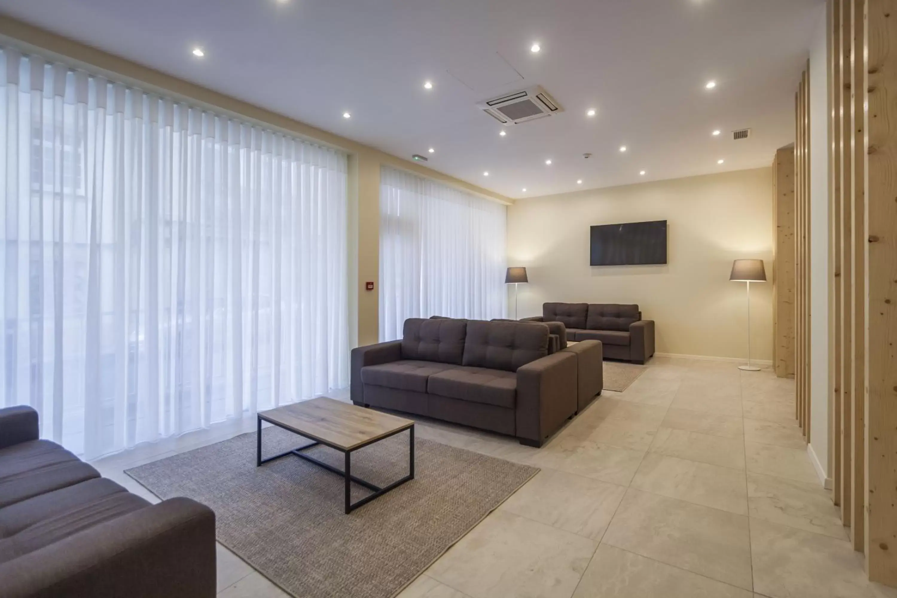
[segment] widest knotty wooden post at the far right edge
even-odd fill
[[[867,0],[866,555],[897,585],[897,0]]]

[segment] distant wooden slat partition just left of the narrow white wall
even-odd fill
[[[795,379],[797,423],[810,441],[810,75],[795,98]]]

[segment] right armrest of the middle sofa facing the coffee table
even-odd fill
[[[576,413],[576,356],[558,351],[517,370],[517,437],[531,446],[561,429]]]

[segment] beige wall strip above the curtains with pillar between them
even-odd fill
[[[351,139],[306,125],[290,117],[284,117],[265,108],[236,100],[195,83],[172,77],[2,15],[0,15],[0,40],[25,51],[37,49],[44,54],[65,58],[70,63],[80,63],[100,73],[112,74],[116,79],[135,84],[144,90],[162,91],[176,99],[206,105],[221,113],[230,113],[263,126],[278,128],[285,133],[347,152],[349,154],[349,205],[351,209],[349,238],[353,257],[349,264],[349,272],[352,277],[349,289],[349,316],[352,325],[350,342],[353,343],[353,346],[356,342],[363,345],[378,340],[381,164],[411,170],[448,185],[483,195],[501,204],[513,203],[513,200],[508,197],[492,193],[483,187],[471,185],[436,170],[425,168],[420,164],[380,152],[368,145],[353,142]],[[374,282],[374,290],[365,290],[364,283],[368,281]]]

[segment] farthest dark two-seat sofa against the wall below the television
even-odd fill
[[[568,341],[601,341],[604,356],[644,363],[654,355],[654,320],[641,319],[638,305],[544,303],[542,316],[529,322],[561,322]]]

